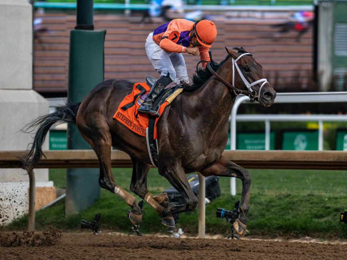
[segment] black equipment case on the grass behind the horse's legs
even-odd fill
[[[219,188],[219,182],[218,182],[218,177],[217,176],[209,176],[205,177],[205,195],[206,198],[208,198],[210,201],[213,200],[214,198],[217,198],[220,196],[220,188]],[[197,174],[193,174],[188,176],[188,182],[191,185],[191,188],[196,196],[198,198],[199,196],[199,178]],[[169,202],[172,204],[185,204],[185,200],[182,197],[182,195],[174,188],[170,187],[163,192],[166,192],[169,197]]]

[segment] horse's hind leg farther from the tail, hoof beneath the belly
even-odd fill
[[[137,194],[140,198],[147,201],[155,209],[155,211],[158,212],[163,225],[175,227],[174,218],[170,213],[168,213],[168,210],[162,206],[167,197],[165,198],[165,196],[162,194],[153,197],[153,195],[147,190],[147,174],[151,166],[137,160],[133,156],[130,157],[133,161],[133,175],[130,183],[130,190]],[[160,205],[160,203],[162,203],[162,205]]]

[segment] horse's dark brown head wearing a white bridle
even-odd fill
[[[243,47],[234,49],[238,52],[226,48],[232,57],[230,59],[233,71],[232,85],[242,90],[255,91],[258,94],[257,98],[254,98],[255,100],[264,107],[271,106],[274,103],[276,92],[264,79],[262,66]]]

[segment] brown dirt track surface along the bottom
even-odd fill
[[[12,233],[6,235],[13,237]],[[61,238],[57,233],[46,236],[54,237],[53,245],[0,246],[0,259],[344,259],[347,255],[347,245],[342,244],[91,233],[64,233]],[[3,239],[4,236],[2,242]],[[21,244],[25,244],[25,239]]]

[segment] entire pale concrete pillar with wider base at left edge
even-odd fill
[[[32,90],[31,5],[0,0],[0,24],[0,150],[25,150],[32,135],[20,129],[48,113],[48,102]],[[38,185],[52,186],[47,169],[35,170],[35,177]],[[24,170],[0,169],[0,225],[27,212],[28,181]]]

